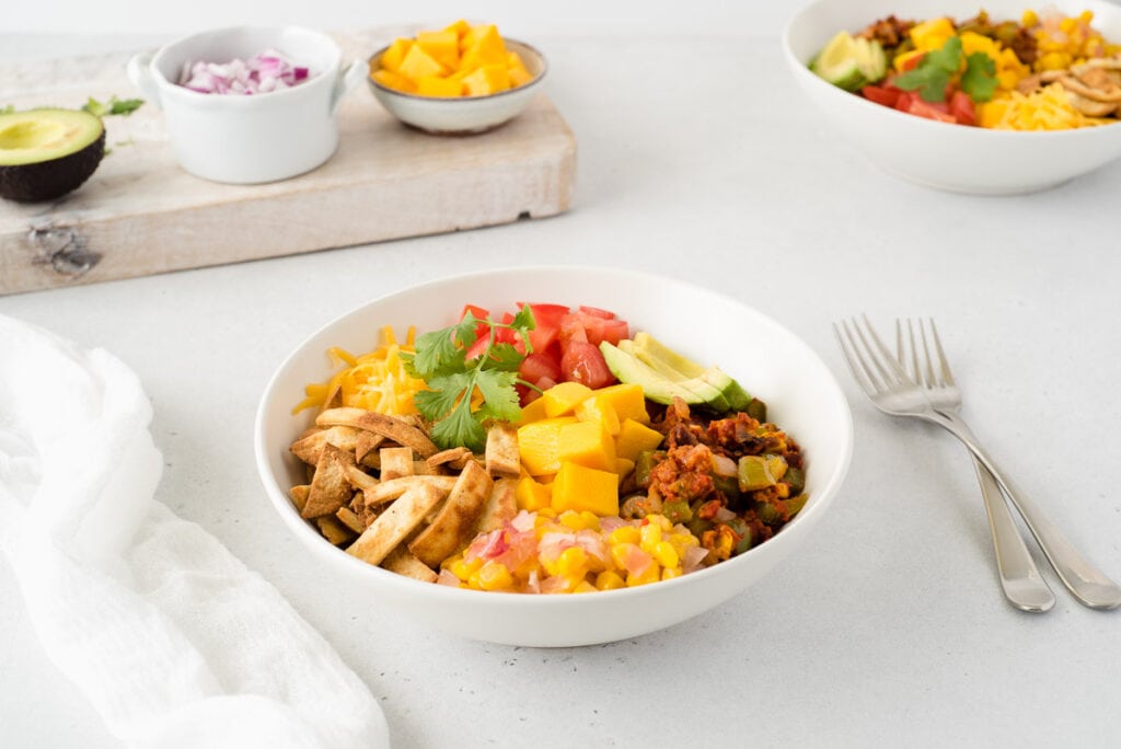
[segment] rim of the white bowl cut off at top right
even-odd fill
[[[1112,138],[1113,136],[1101,135],[1101,133],[1103,132],[1109,133],[1112,131],[1111,126],[1121,124],[1121,120],[1119,120],[1117,122],[1110,122],[1106,124],[1101,124],[1095,127],[1067,128],[1065,130],[999,130],[995,128],[981,128],[981,127],[967,127],[967,126],[956,126],[954,130],[947,130],[943,126],[955,124],[955,123],[937,122],[935,120],[928,120],[923,117],[915,117],[914,114],[900,112],[890,107],[877,104],[876,102],[869,101],[868,99],[859,96],[855,93],[840,89],[828,83],[824,78],[815,75],[813,72],[810,72],[808,62],[803,61],[795,53],[794,46],[791,44],[791,37],[798,24],[812,17],[815,12],[818,12],[822,8],[840,7],[844,4],[846,4],[844,0],[814,0],[810,3],[803,6],[797,11],[795,11],[794,15],[790,16],[789,20],[784,27],[781,36],[781,46],[782,46],[782,54],[786,57],[788,65],[794,70],[796,75],[803,77],[803,80],[813,80],[816,82],[816,84],[819,84],[821,86],[827,86],[830,90],[834,91],[837,95],[843,96],[844,100],[858,102],[856,104],[858,107],[872,107],[878,110],[884,110],[886,112],[889,113],[890,117],[897,118],[893,120],[896,122],[905,122],[905,121],[914,122],[916,123],[915,127],[937,128],[938,132],[961,133],[960,136],[956,137],[984,138],[988,140],[1013,139],[1020,142],[1023,142],[1028,139],[1055,140],[1063,138],[1067,140],[1073,140],[1073,139],[1091,140],[1096,138]],[[1028,0],[1025,0],[1023,7],[1028,8],[1029,4],[1030,3],[1028,2]],[[1096,8],[1109,8],[1111,12],[1115,13],[1121,12],[1121,7],[1118,7],[1111,2],[1103,2],[1101,0],[1084,0],[1084,4],[1087,7],[1087,9],[1090,9],[1088,6],[1095,6],[1095,8],[1091,9],[1094,10],[1095,16],[1096,16]],[[871,22],[871,20],[869,22]],[[1121,41],[1119,41],[1119,44],[1121,44]],[[865,110],[865,111],[871,111],[871,110]]]

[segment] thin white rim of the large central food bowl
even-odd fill
[[[296,512],[295,506],[288,498],[288,488],[281,487],[277,481],[277,478],[270,470],[269,455],[266,452],[267,435],[265,434],[265,422],[266,412],[269,408],[269,404],[275,397],[275,390],[278,385],[278,380],[281,374],[302,355],[306,354],[308,345],[317,337],[319,337],[324,332],[339,325],[343,321],[365,314],[367,311],[380,304],[386,304],[401,296],[414,295],[418,293],[435,292],[443,285],[456,281],[470,281],[474,278],[482,278],[493,275],[517,275],[517,274],[548,274],[553,271],[564,271],[564,272],[589,272],[589,274],[602,274],[602,272],[614,272],[614,274],[627,274],[639,280],[656,281],[663,285],[675,286],[679,289],[691,290],[693,293],[702,292],[704,294],[721,297],[724,300],[734,304],[736,306],[743,307],[747,312],[753,315],[760,323],[765,325],[772,326],[778,332],[788,336],[791,343],[798,348],[805,355],[808,355],[809,361],[818,369],[819,373],[824,377],[821,378],[822,383],[830,392],[830,400],[840,407],[840,431],[835,434],[840,438],[840,445],[837,450],[837,463],[834,468],[832,475],[825,477],[823,484],[816,490],[816,494],[822,497],[821,501],[809,502],[808,506],[799,512],[793,520],[790,520],[782,529],[775,534],[773,537],[754,546],[743,554],[721,562],[711,567],[698,570],[696,572],[689,573],[688,575],[682,575],[680,577],[674,577],[670,580],[658,581],[657,584],[650,585],[638,585],[636,588],[624,588],[610,591],[596,591],[595,595],[530,595],[522,593],[509,593],[507,595],[495,597],[494,591],[476,591],[471,589],[452,588],[450,585],[441,585],[436,583],[424,583],[418,580],[413,580],[405,575],[390,572],[379,566],[369,564],[368,562],[360,560],[351,554],[348,554],[345,549],[339,548],[327,542],[323,536],[316,531],[311,523],[306,519],[299,517]],[[845,398],[844,391],[841,388],[840,382],[833,374],[832,370],[825,364],[825,361],[817,354],[817,352],[809,346],[809,344],[796,335],[788,327],[776,321],[770,315],[761,312],[757,307],[751,306],[744,302],[741,302],[730,295],[716,292],[714,289],[707,288],[705,286],[693,284],[689,281],[684,281],[678,278],[673,278],[669,276],[663,276],[659,274],[654,274],[647,270],[634,270],[629,268],[619,267],[600,267],[600,266],[584,266],[584,265],[538,265],[538,266],[510,266],[500,268],[489,268],[482,270],[474,270],[462,274],[450,274],[426,280],[420,284],[414,284],[405,288],[399,288],[395,292],[388,294],[382,294],[378,297],[369,299],[356,307],[353,307],[343,314],[334,317],[327,323],[318,326],[312,333],[306,335],[294,349],[285,355],[280,364],[274,370],[272,376],[269,378],[268,383],[261,395],[260,401],[258,404],[257,415],[253,424],[253,452],[257,462],[258,473],[265,484],[266,493],[274,509],[280,515],[281,520],[286,527],[290,528],[313,553],[321,556],[325,562],[333,562],[343,565],[349,565],[349,570],[353,571],[359,575],[368,575],[369,579],[374,582],[376,585],[385,584],[393,586],[396,590],[409,594],[419,595],[434,595],[444,597],[441,600],[455,600],[455,601],[501,601],[503,605],[512,605],[517,608],[525,607],[581,607],[581,605],[595,605],[595,601],[602,601],[610,599],[619,599],[624,597],[630,597],[634,599],[640,599],[648,595],[658,595],[663,592],[668,592],[678,588],[680,585],[691,584],[691,581],[703,580],[707,577],[732,575],[736,570],[748,564],[751,560],[769,555],[777,547],[771,546],[772,551],[767,549],[770,544],[773,544],[780,538],[795,538],[808,533],[809,525],[813,519],[815,519],[822,512],[825,512],[828,506],[833,502],[833,499],[840,491],[844,479],[847,475],[849,469],[852,463],[853,454],[853,418],[852,410],[849,407],[847,399]],[[813,457],[809,456],[810,465]],[[802,520],[802,518],[808,517],[810,520]],[[782,542],[779,544],[793,543],[790,540]],[[446,597],[451,595],[451,599]]]

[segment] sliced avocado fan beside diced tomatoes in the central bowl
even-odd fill
[[[600,351],[619,381],[640,385],[646,397],[655,403],[671,404],[677,397],[723,413],[742,410],[751,401],[740,383],[719,367],[705,369],[648,333],[639,333],[632,341],[620,341],[618,346],[604,341]]]

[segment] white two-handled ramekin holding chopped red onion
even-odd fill
[[[263,94],[207,94],[177,83],[184,65],[228,63],[277,49],[308,78]],[[361,62],[342,67],[331,37],[309,29],[238,26],[195,34],[129,61],[128,74],[164,110],[179,165],[213,182],[257,184],[309,172],[339,146],[336,111],[365,77]]]

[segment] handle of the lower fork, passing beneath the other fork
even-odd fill
[[[1004,496],[1000,493],[1000,484],[976,457],[972,462],[978,481],[981,483],[985,514],[989,516],[989,530],[992,534],[997,571],[1000,573],[1000,585],[1004,591],[1004,598],[1021,611],[1034,613],[1050,611],[1055,605],[1055,593],[1039,574],[1023,537],[1016,528],[1012,511],[1008,509]]]

